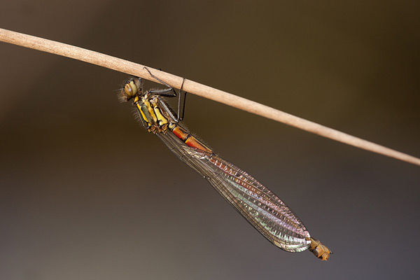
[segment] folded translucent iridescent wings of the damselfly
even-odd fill
[[[272,244],[289,252],[309,248],[311,237],[302,221],[253,176],[214,153],[187,146],[170,131],[156,135]]]

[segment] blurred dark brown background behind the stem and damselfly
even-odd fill
[[[0,27],[419,157],[418,1],[290,2],[7,1]],[[6,43],[0,57],[1,279],[419,279],[418,166],[190,94],[190,130],[335,252],[286,253],[118,103],[127,75]]]

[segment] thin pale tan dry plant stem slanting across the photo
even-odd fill
[[[92,50],[85,50],[83,48],[78,48],[73,45],[58,43],[56,41],[50,41],[47,39],[21,34],[6,29],[0,29],[0,41],[6,43],[13,43],[15,45],[22,45],[26,48],[42,50],[43,52],[50,52],[56,55],[62,55],[64,57],[71,57],[73,59],[78,59],[83,62],[96,64],[133,76],[138,76],[141,78],[146,78],[148,80],[158,82],[150,76],[148,71],[146,71],[144,65],[129,62],[127,60],[120,59],[117,57],[104,55],[102,53],[94,52]],[[170,73],[159,71],[157,69],[153,69],[151,67],[147,68],[151,71],[151,73],[153,73],[153,75],[160,78],[160,80],[165,81],[165,83],[167,83],[168,85],[171,85],[172,87],[176,88],[181,87],[183,78],[172,75]],[[249,113],[255,113],[256,115],[265,118],[270,118],[272,120],[285,123],[286,125],[291,125],[293,127],[300,128],[301,130],[306,130],[308,132],[312,132],[314,134],[318,134],[323,137],[342,142],[344,144],[349,144],[351,146],[363,148],[367,151],[372,151],[374,153],[386,155],[391,158],[396,158],[398,160],[410,162],[414,165],[420,165],[420,159],[415,158],[411,155],[400,153],[398,151],[392,150],[391,148],[386,148],[384,146],[374,144],[370,141],[366,141],[358,137],[353,137],[349,134],[339,132],[338,130],[333,130],[323,125],[318,125],[317,123],[313,123],[309,120],[304,120],[302,118],[290,115],[289,113],[284,113],[282,111],[273,109],[269,106],[265,106],[257,102],[253,102],[251,100],[238,97],[234,94],[223,92],[221,90],[216,90],[213,87],[208,87],[207,85],[202,85],[200,83],[195,83],[192,80],[185,80],[183,84],[183,90],[186,90],[186,92],[197,94],[201,97],[214,100],[216,102],[221,102],[223,104],[233,106],[237,109],[241,109]]]

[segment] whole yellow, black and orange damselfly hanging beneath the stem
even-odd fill
[[[155,76],[153,78],[159,80]],[[157,135],[180,160],[204,176],[272,244],[288,252],[302,252],[309,248],[317,258],[328,260],[330,250],[309,235],[302,221],[279,197],[253,176],[220,158],[179,125],[183,119],[186,92],[181,102],[181,86],[178,111],[175,113],[163,98],[176,97],[176,91],[159,81],[167,88],[144,92],[141,78],[132,78],[120,92],[123,101],[133,100],[141,123],[148,132]]]

